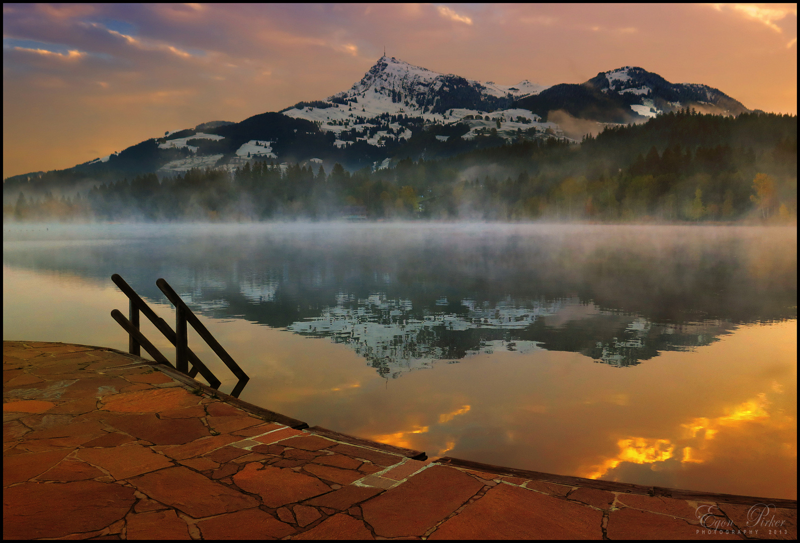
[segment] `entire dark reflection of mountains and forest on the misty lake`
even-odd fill
[[[120,273],[158,301],[165,277],[200,313],[330,337],[385,377],[498,349],[625,367],[797,314],[794,229],[168,228],[54,229],[57,241],[6,243],[3,259],[103,282]]]

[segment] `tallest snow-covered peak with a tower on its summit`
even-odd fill
[[[382,57],[350,90],[326,101],[298,102],[282,114],[306,119],[323,131],[333,132],[339,148],[359,141],[385,146],[408,140],[414,130],[401,118],[418,119],[420,128],[425,124],[462,123],[469,130],[457,137],[464,140],[482,134],[512,139],[518,138],[521,131],[530,138],[563,136],[554,123],[542,122],[530,110],[514,107],[519,98],[546,88],[528,80],[509,86],[482,83]],[[452,136],[438,134],[437,138],[446,142]]]

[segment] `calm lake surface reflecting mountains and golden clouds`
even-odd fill
[[[4,339],[126,349],[112,273],[170,321],[166,278],[250,374],[242,399],[310,425],[796,497],[793,228],[5,225]]]

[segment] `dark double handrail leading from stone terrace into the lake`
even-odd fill
[[[234,375],[238,377],[238,383],[231,392],[231,396],[238,397],[247,381],[250,381],[250,377],[239,367],[234,359],[230,357],[230,354],[222,348],[222,345],[211,335],[198,317],[192,313],[192,310],[189,309],[181,297],[175,293],[169,283],[164,279],[158,279],[158,281],[156,281],[158,288],[161,289],[166,297],[175,305],[175,328],[177,332],[173,330],[164,319],[158,317],[153,309],[150,309],[150,306],[139,297],[136,291],[132,289],[118,273],[114,273],[114,275],[111,276],[111,281],[114,281],[114,284],[122,290],[122,293],[124,293],[130,301],[130,320],[118,309],[111,311],[111,317],[114,317],[114,320],[129,334],[128,350],[131,354],[139,355],[141,353],[140,347],[144,347],[145,350],[150,353],[150,356],[153,357],[155,361],[158,361],[158,363],[176,367],[178,371],[187,373],[190,377],[194,377],[199,372],[205,377],[211,388],[218,389],[219,385],[221,385],[221,381],[202,363],[202,361],[200,361],[197,355],[189,348],[189,345],[187,345],[188,337],[186,325],[190,324],[200,337],[208,343],[211,349],[218,354],[222,361],[225,362],[225,365],[228,366]],[[164,334],[164,337],[166,337],[170,343],[175,345],[175,366],[173,366],[170,361],[147,340],[144,334],[142,334],[139,329],[140,312],[144,313],[158,331]],[[189,370],[189,363],[192,365],[191,370]]]

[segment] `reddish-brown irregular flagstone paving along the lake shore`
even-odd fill
[[[4,341],[3,382],[4,539],[797,538],[796,501],[419,460],[114,349]]]

